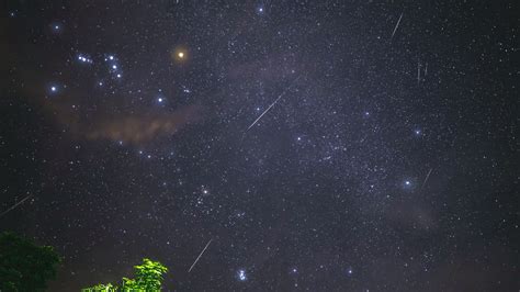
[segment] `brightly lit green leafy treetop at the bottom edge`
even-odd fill
[[[82,289],[82,292],[157,292],[161,290],[162,274],[168,268],[159,261],[144,258],[143,265],[134,266],[135,279],[123,278],[121,289],[111,283]]]

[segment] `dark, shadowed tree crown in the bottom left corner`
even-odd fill
[[[0,234],[0,291],[45,291],[56,278],[60,257],[13,233]]]

